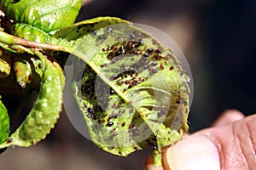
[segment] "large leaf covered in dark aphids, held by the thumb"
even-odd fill
[[[87,64],[73,89],[90,138],[119,156],[152,144],[160,164],[161,148],[188,130],[189,78],[172,50],[148,33],[127,22],[103,26],[106,19],[99,20],[54,35],[75,45],[72,53]],[[76,76],[81,67],[74,68]]]

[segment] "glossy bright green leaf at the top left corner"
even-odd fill
[[[82,0],[2,0],[0,5],[16,23],[50,32],[72,25]]]

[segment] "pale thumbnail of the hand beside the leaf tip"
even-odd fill
[[[203,135],[189,136],[166,150],[164,166],[171,170],[219,170],[218,148]]]

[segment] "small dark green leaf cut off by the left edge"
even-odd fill
[[[0,96],[1,99],[1,96]],[[0,144],[5,142],[10,133],[9,129],[9,115],[7,109],[3,105],[3,102],[0,100]]]

